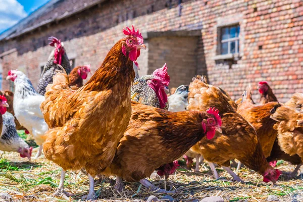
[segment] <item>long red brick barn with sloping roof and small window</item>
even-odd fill
[[[281,102],[303,92],[300,0],[51,0],[0,35],[0,69],[4,78],[19,69],[36,87],[53,48],[47,37],[56,36],[73,66],[94,71],[131,25],[147,45],[139,74],[167,63],[170,87],[206,74],[233,98],[261,80]]]

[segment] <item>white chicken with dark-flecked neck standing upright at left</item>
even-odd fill
[[[39,145],[39,150],[35,156],[37,159],[42,153],[42,135],[48,130],[40,110],[40,104],[44,96],[37,93],[26,75],[18,70],[10,70],[7,80],[14,82],[14,112],[22,126],[33,135],[35,142]]]

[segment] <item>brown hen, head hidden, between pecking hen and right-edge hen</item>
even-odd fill
[[[278,102],[255,105],[251,99],[250,86],[247,87],[242,103],[238,106],[237,113],[256,129],[265,157],[270,156],[273,144],[277,138],[277,130],[274,129],[276,121],[271,119],[270,116],[278,107],[281,107]]]

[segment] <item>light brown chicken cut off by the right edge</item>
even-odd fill
[[[271,116],[277,121],[278,143],[291,157],[298,155],[303,160],[303,114],[295,108],[282,106]],[[297,169],[297,168],[296,168]]]

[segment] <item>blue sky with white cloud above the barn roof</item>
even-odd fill
[[[49,0],[0,0],[0,33]]]

